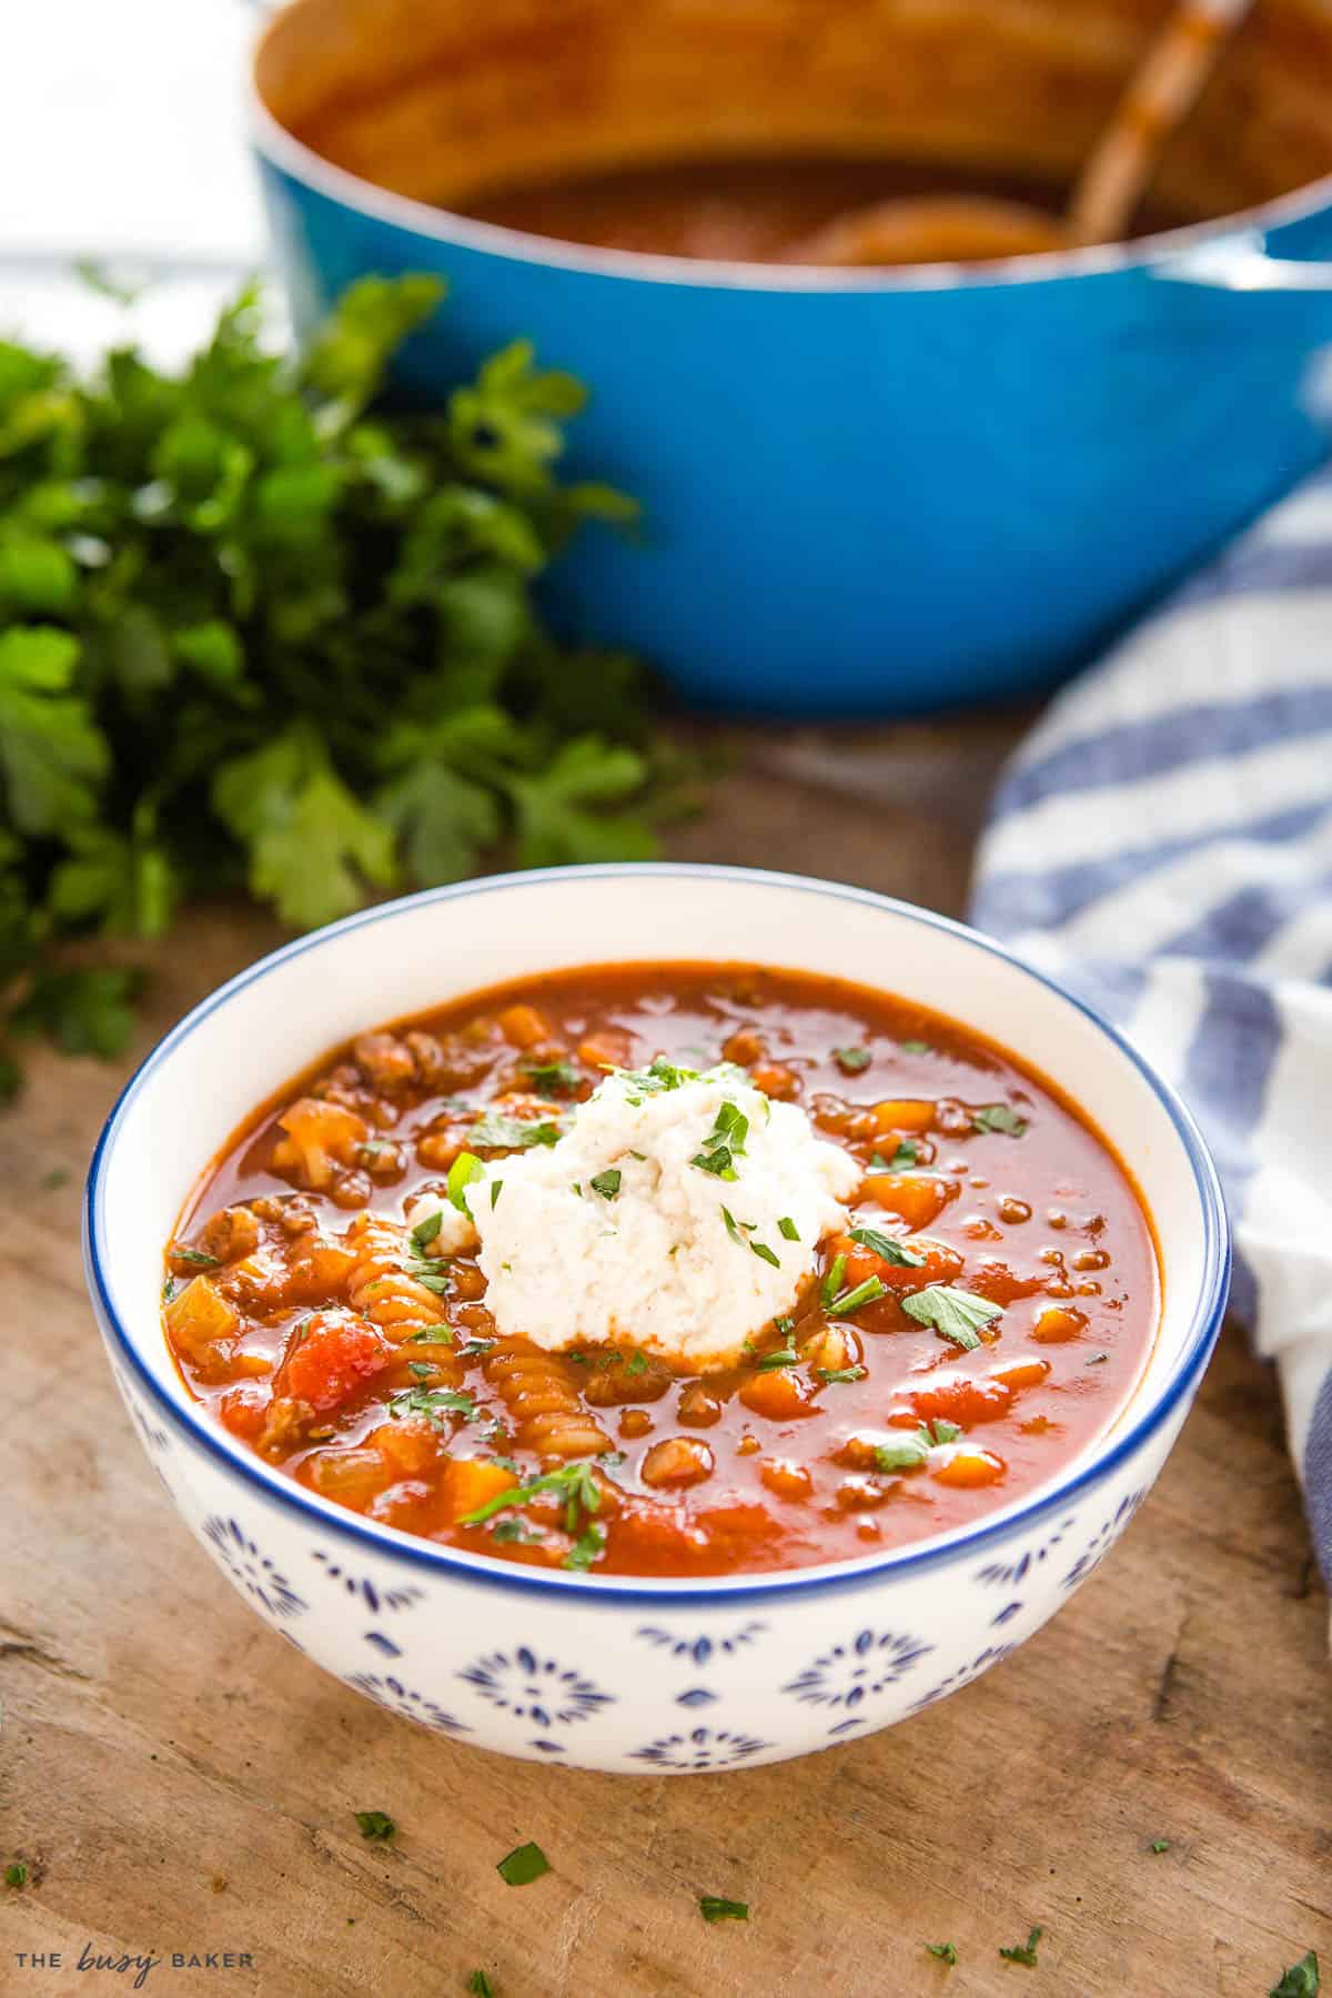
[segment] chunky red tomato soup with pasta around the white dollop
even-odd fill
[[[559,1351],[499,1323],[501,1165],[565,1157],[599,1085],[641,1105],[717,1063],[725,1101],[677,1173],[715,1201],[707,1253],[745,1259],[715,1263],[717,1297],[789,1283],[789,1305],[721,1365],[633,1323]],[[859,1169],[833,1157],[849,1187],[817,1243],[761,1215],[777,1105]],[[641,1271],[635,1161],[569,1191]],[[559,1225],[535,1233],[523,1251],[557,1257]],[[361,1035],[232,1139],[166,1271],[186,1383],[270,1465],[427,1540],[595,1574],[797,1568],[979,1520],[1106,1429],[1158,1321],[1132,1181],[1048,1081],[917,1005],[735,965],[557,973]]]

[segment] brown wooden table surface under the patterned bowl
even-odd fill
[[[673,849],[957,911],[1012,733],[767,733]],[[134,1059],[272,941],[252,915],[190,919]],[[473,1968],[497,1998],[1262,1998],[1308,1948],[1332,1968],[1328,1604],[1276,1387],[1238,1335],[1122,1546],[955,1698],[725,1776],[509,1762],[324,1676],[178,1522],[80,1273],[120,1081],[38,1057],[0,1119],[0,1872],[28,1864],[0,1886],[0,1992],[136,1984],[136,1964],[78,1970],[98,1952],[164,1956],[140,1988],[208,1998],[447,1998]],[[393,1846],[361,1840],[363,1808],[397,1820]],[[507,1888],[495,1862],[529,1838],[553,1872]],[[749,1922],[705,1926],[705,1892]],[[1038,1968],[1000,1962],[1032,1924]],[[945,1940],[953,1970],[925,1952]]]

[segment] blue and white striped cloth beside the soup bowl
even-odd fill
[[[1074,681],[1008,765],[973,921],[1202,1123],[1332,1586],[1332,474]]]

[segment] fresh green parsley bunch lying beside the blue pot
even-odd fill
[[[0,342],[2,1091],[16,1035],[130,1031],[136,975],[70,937],[242,883],[310,927],[497,847],[653,853],[641,669],[533,603],[579,519],[635,509],[559,482],[583,388],[523,342],[443,410],[371,408],[439,298],[361,280],[290,360],[248,290],[180,376]]]

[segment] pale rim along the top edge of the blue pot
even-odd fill
[[[593,244],[571,244],[555,236],[531,236],[499,222],[477,222],[449,208],[433,208],[409,194],[393,194],[373,180],[363,180],[345,166],[333,166],[324,154],[306,146],[276,112],[268,108],[258,82],[258,58],[270,34],[282,26],[274,16],[256,36],[248,64],[248,124],[250,140],[260,158],[278,174],[286,174],[314,194],[335,202],[351,214],[367,216],[423,242],[453,244],[459,250],[479,250],[507,258],[511,264],[547,266],[593,278],[635,278],[641,284],[675,284],[683,290],[737,292],[809,292],[815,296],[855,296],[881,292],[983,290],[1010,284],[1048,284],[1058,278],[1104,276],[1120,270],[1146,270],[1168,264],[1180,252],[1234,234],[1266,234],[1288,228],[1318,214],[1332,202],[1332,174],[1300,188],[1236,208],[1234,214],[1206,222],[1186,222],[1174,230],[1158,230],[1122,244],[1086,244],[1070,250],[1044,250],[1026,256],[995,258],[985,264],[895,264],[891,268],[833,268],[827,264],[747,264],[735,258],[683,258],[643,250],[603,250]]]

